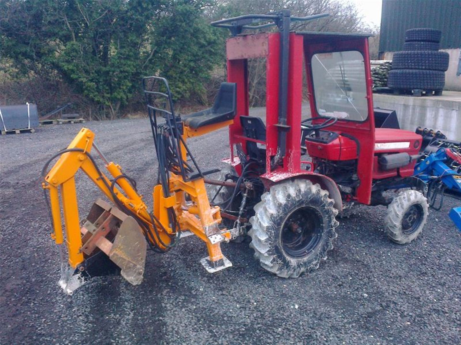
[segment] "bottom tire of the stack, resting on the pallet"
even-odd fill
[[[425,69],[392,69],[387,86],[396,90],[443,90],[445,73]]]

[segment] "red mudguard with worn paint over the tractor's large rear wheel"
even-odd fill
[[[316,173],[288,173],[284,171],[272,171],[270,173],[265,173],[260,176],[263,179],[264,184],[267,187],[270,187],[272,184],[279,183],[281,181],[290,180],[294,178],[305,178],[312,181],[313,184],[318,183],[322,189],[327,190],[330,193],[330,197],[335,201],[334,207],[341,212],[343,210],[343,199],[341,198],[341,193],[335,181],[331,178],[316,174]]]

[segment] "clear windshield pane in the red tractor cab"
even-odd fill
[[[319,115],[349,121],[366,120],[365,63],[360,52],[314,54],[311,66]]]

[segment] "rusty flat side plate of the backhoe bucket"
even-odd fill
[[[118,229],[109,258],[122,269],[121,275],[133,285],[142,282],[146,250],[147,243],[141,227],[133,217],[127,217]]]

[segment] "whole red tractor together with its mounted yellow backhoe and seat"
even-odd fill
[[[178,115],[168,82],[143,79],[159,167],[152,209],[136,182],[98,149],[88,128],[47,161],[42,186],[49,191],[52,237],[62,260],[59,284],[66,293],[92,276],[121,274],[137,285],[147,247],[166,253],[189,234],[206,244],[201,264],[208,272],[232,265],[221,243],[249,235],[261,266],[297,277],[326,259],[338,213],[350,213],[355,204],[386,205],[386,232],[394,242],[408,243],[420,234],[428,203],[418,191],[426,184],[414,175],[414,166],[423,157],[423,137],[399,129],[395,112],[373,109],[368,35],[290,32],[292,20],[322,16],[292,17],[284,10],[214,22],[233,37],[227,40],[228,82],[210,109]],[[241,35],[271,25],[279,30]],[[255,58],[266,61],[265,122],[248,112],[247,66]],[[303,84],[310,114],[301,111]],[[161,118],[165,123],[158,122]],[[219,180],[206,178],[217,169],[201,171],[186,139],[227,126],[229,168]],[[432,147],[429,140],[425,151]],[[91,150],[104,161],[106,173]],[[110,201],[96,201],[83,222],[75,185],[79,170]],[[420,172],[431,181],[429,170]],[[214,185],[210,197],[206,183]],[[438,186],[428,184],[434,183]]]

